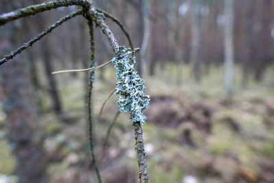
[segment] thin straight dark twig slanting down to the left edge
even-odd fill
[[[72,12],[66,16],[64,16],[63,18],[61,18],[59,21],[55,22],[53,25],[51,25],[49,28],[45,29],[41,34],[38,34],[35,38],[33,38],[32,40],[29,40],[29,42],[26,42],[23,44],[23,46],[19,47],[18,49],[16,49],[15,51],[12,51],[10,53],[10,55],[5,56],[5,58],[0,60],[0,65],[7,62],[8,60],[14,58],[14,56],[16,56],[18,53],[21,53],[21,51],[27,49],[28,47],[31,47],[34,42],[40,40],[42,37],[44,37],[45,35],[49,34],[53,29],[55,29],[56,27],[58,27],[59,25],[61,25],[62,23],[64,23],[65,21],[73,18],[74,16],[78,15],[78,14],[82,14],[83,10],[76,10],[75,12]]]

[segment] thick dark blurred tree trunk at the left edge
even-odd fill
[[[8,38],[0,37],[0,56],[13,49]],[[16,56],[1,65],[0,84],[3,111],[7,114],[5,132],[16,157],[16,174],[21,183],[47,182],[47,158],[36,117],[32,84],[25,71],[25,62]]]

